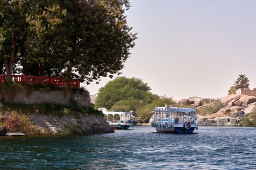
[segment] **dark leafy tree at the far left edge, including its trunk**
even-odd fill
[[[25,22],[29,0],[0,1],[0,61],[4,62],[7,81],[12,81],[15,61],[23,55],[27,24]]]

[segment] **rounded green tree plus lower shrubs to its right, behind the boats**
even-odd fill
[[[158,96],[150,90],[147,83],[143,83],[139,78],[117,77],[99,88],[94,108],[133,111],[139,120],[148,123],[154,107],[175,105],[171,97]]]

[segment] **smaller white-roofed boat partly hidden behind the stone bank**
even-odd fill
[[[108,112],[107,110],[102,110],[102,113],[106,115],[106,122],[112,129],[128,129],[133,127],[130,123],[131,112]]]

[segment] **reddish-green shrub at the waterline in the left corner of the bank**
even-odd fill
[[[31,123],[30,119],[16,111],[2,113],[0,122],[7,132],[21,132],[25,135],[37,135],[37,128]]]

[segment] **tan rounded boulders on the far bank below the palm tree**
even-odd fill
[[[195,122],[198,126],[242,126],[242,118],[250,118],[250,115],[255,112],[256,109],[256,97],[233,94],[227,95],[219,99],[219,102],[223,104],[223,107],[211,115],[196,114]],[[188,99],[182,99],[178,101],[180,105],[192,105],[195,110],[200,110],[205,107],[214,106],[215,103],[204,103],[199,101],[190,101]],[[149,120],[151,123],[153,115]]]

